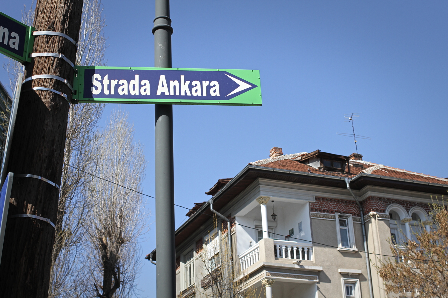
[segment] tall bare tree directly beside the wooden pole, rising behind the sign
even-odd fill
[[[98,0],[84,0],[76,65],[105,65],[102,11]],[[87,169],[97,160],[94,148],[103,109],[103,104],[70,104],[48,297],[79,297],[88,287],[82,276],[87,241],[83,224],[91,205],[84,194],[93,181]]]

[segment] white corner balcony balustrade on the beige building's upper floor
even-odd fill
[[[310,243],[262,239],[238,256],[241,272],[254,264],[263,262],[291,263],[291,260],[313,261],[313,246]]]

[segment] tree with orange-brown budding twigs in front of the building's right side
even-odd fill
[[[448,210],[444,205],[432,205],[432,220],[436,228],[426,231],[421,224],[415,240],[391,242],[396,258],[380,261],[379,276],[391,297],[448,297]]]

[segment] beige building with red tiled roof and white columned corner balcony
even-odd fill
[[[178,297],[385,298],[375,265],[393,258],[390,243],[435,228],[429,203],[447,189],[448,179],[355,153],[274,147],[218,180],[177,229]]]

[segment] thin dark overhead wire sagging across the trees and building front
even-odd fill
[[[92,173],[83,171],[83,170],[81,170],[80,168],[76,168],[76,167],[74,167],[74,166],[72,166],[72,165],[70,165],[70,164],[66,164],[66,163],[64,163],[64,164],[65,164],[66,166],[71,167],[71,168],[77,169],[78,171],[81,171],[81,172],[83,172],[83,173],[86,173],[86,174],[88,174],[88,175],[90,175],[90,176],[94,176],[94,177],[96,177],[96,178],[98,178],[98,179],[101,179],[101,180],[110,182],[110,183],[112,183],[112,184],[118,185],[118,186],[123,187],[123,188],[125,188],[125,189],[129,189],[129,190],[134,191],[134,192],[136,192],[136,193],[139,193],[139,194],[141,194],[141,195],[143,195],[143,196],[146,196],[146,197],[152,197],[153,199],[155,199],[155,197],[150,196],[150,195],[148,195],[148,194],[146,194],[146,193],[141,193],[141,192],[139,192],[139,191],[137,191],[137,190],[135,190],[135,189],[130,189],[129,187],[126,187],[126,186],[124,186],[124,185],[118,184],[118,183],[113,182],[113,181],[111,181],[111,180],[107,180],[107,179],[105,179],[105,178],[96,176],[96,175],[94,175],[94,174],[92,174]],[[181,205],[177,205],[177,204],[174,204],[174,206],[181,207],[181,208],[184,208],[184,209],[193,211],[193,210],[191,210],[191,208],[188,208],[188,207],[185,207],[185,206],[181,206]],[[199,212],[199,210],[195,210],[194,212],[198,212],[198,213],[200,213],[200,214],[204,214],[204,215],[207,215],[207,216],[210,216],[210,217],[213,217],[213,216],[214,216],[214,215],[212,215],[212,214],[207,214],[207,213],[204,213],[204,212]],[[185,219],[184,219],[184,220],[185,220]],[[362,220],[362,219],[361,219],[361,220]],[[224,222],[230,222],[230,223],[232,223],[232,224],[235,224],[235,225],[238,225],[238,226],[241,226],[241,227],[246,227],[246,228],[249,228],[249,229],[253,229],[253,230],[256,230],[256,231],[268,232],[268,231],[263,231],[263,230],[257,229],[257,228],[255,228],[255,227],[245,226],[245,225],[243,225],[243,224],[241,224],[241,223],[232,222],[231,220],[222,220],[222,221],[224,221]],[[180,225],[179,225],[179,226],[180,226]],[[178,226],[178,227],[179,227],[179,226]],[[269,232],[268,232],[268,233],[269,233]],[[320,242],[312,241],[312,240],[306,240],[306,239],[295,238],[295,237],[292,237],[292,236],[289,236],[289,235],[281,235],[281,234],[277,234],[277,233],[274,233],[274,234],[277,235],[277,236],[285,237],[285,238],[288,237],[288,238],[290,238],[290,239],[296,239],[296,240],[306,241],[306,242],[315,243],[315,244],[319,244],[319,245],[323,245],[323,246],[327,246],[327,247],[331,247],[331,248],[340,248],[340,247],[337,247],[337,246],[334,246],[334,245],[325,244],[325,243],[320,243]],[[344,249],[345,249],[345,250],[352,251],[352,252],[364,252],[364,251],[362,251],[362,250],[355,250],[355,249],[351,249],[351,248],[344,248]],[[365,252],[364,252],[364,253],[365,253]],[[383,254],[374,253],[374,252],[367,252],[367,253],[368,253],[369,255],[375,255],[375,256],[389,256],[389,257],[393,257],[393,258],[400,257],[400,256],[383,255]],[[405,257],[405,259],[406,259],[406,260],[420,260],[420,261],[435,261],[435,262],[440,262],[440,261],[438,261],[438,260],[417,259],[417,258],[409,258],[409,257]]]

